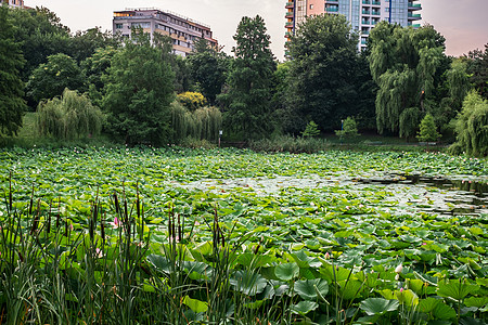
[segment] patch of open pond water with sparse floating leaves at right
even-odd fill
[[[386,193],[382,206],[393,213],[426,212],[450,218],[452,216],[488,216],[488,181],[423,177],[420,174],[385,173],[349,178],[307,176],[300,178],[237,178],[206,179],[179,184],[187,190],[227,194],[248,192],[256,195],[278,195],[283,188],[329,191],[333,195],[354,193],[362,197],[365,192]],[[335,194],[334,194],[335,193]]]

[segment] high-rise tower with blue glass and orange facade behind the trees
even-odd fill
[[[422,20],[419,0],[288,0],[286,2],[286,34],[290,38],[307,16],[343,14],[358,31],[358,48],[364,49],[370,30],[381,21],[419,28]]]

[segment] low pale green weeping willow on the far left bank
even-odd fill
[[[65,89],[61,98],[41,102],[36,127],[41,135],[63,140],[100,134],[103,114],[86,95]]]

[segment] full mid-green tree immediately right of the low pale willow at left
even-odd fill
[[[167,51],[151,46],[147,36],[133,36],[114,55],[102,79],[103,107],[108,114],[106,129],[127,144],[160,145],[171,139],[175,75]]]

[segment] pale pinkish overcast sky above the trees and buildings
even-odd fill
[[[286,0],[25,0],[28,6],[55,12],[73,32],[94,26],[112,30],[114,11],[157,8],[176,12],[211,27],[214,38],[231,53],[232,36],[243,16],[260,15],[271,36],[271,48],[280,61],[284,53]],[[434,25],[446,37],[446,53],[459,56],[488,43],[488,0],[422,0],[422,24]]]

